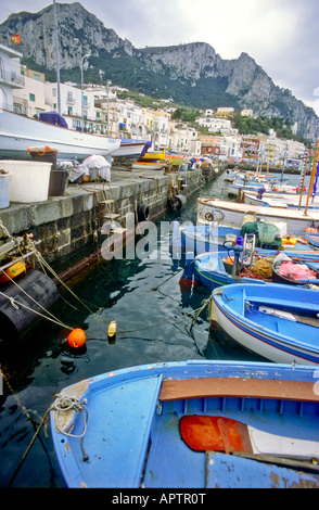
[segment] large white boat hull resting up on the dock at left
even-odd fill
[[[30,146],[54,146],[61,157],[106,156],[116,151],[120,139],[66,129],[42,120],[0,110],[0,156],[29,158]]]

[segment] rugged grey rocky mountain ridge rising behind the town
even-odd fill
[[[91,77],[98,82],[102,72],[119,86],[195,107],[253,109],[257,115],[297,123],[299,136],[314,141],[319,137],[314,110],[290,90],[277,87],[246,53],[222,60],[205,42],[137,49],[78,2],[56,4],[56,11],[61,71],[79,67],[81,56],[88,53]],[[11,46],[13,34],[21,34],[23,44],[18,49],[28,65],[44,72],[55,68],[52,5],[38,13],[11,14],[0,25],[0,42]]]

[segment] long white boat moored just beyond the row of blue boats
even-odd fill
[[[306,228],[319,225],[319,211],[310,209],[305,212],[293,208],[259,207],[218,199],[197,199],[199,224],[209,224],[217,217],[224,226],[241,228],[245,215],[254,217],[254,220],[261,218],[272,224],[285,221],[288,232],[305,232]]]

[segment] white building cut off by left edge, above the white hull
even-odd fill
[[[13,111],[13,94],[24,88],[21,74],[23,54],[4,44],[0,44],[0,106]]]

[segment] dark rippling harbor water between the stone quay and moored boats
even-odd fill
[[[220,330],[209,331],[208,308],[204,306],[209,291],[180,288],[183,259],[173,258],[171,232],[162,228],[162,224],[175,220],[195,224],[197,196],[227,200],[227,187],[221,175],[179,212],[167,213],[155,225],[153,243],[145,245],[145,238],[136,239],[139,251],[133,258],[101,257],[67,282],[74,295],[61,292],[51,309],[59,324],[40,319],[22,343],[1,352],[5,377],[0,381],[1,487],[65,486],[49,425],[41,428],[20,466],[54,395],[65,386],[135,365],[187,359],[261,360]],[[143,257],[138,256],[141,253]],[[117,322],[115,341],[107,339],[112,320]],[[82,349],[68,348],[69,328],[85,330]]]

